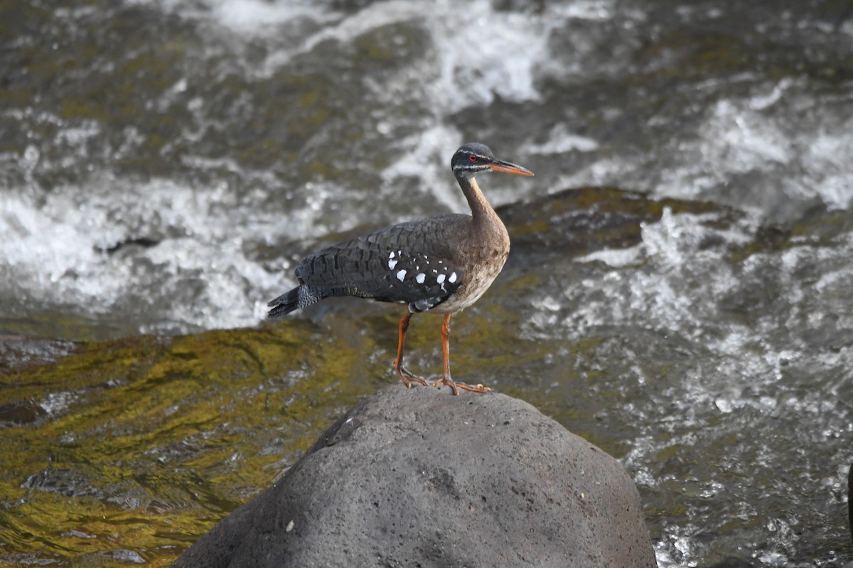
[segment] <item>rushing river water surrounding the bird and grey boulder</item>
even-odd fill
[[[480,182],[455,375],[616,456],[662,566],[850,558],[853,4],[13,0],[0,45],[0,561],[168,563],[396,381],[394,310],[265,303],[465,211],[467,141],[537,177]]]

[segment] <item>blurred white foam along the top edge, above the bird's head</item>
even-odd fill
[[[134,2],[145,3],[145,0]],[[547,14],[520,14],[496,10],[488,0],[466,3],[463,14],[460,5],[451,0],[431,3],[428,8],[423,3],[391,0],[371,3],[354,14],[344,14],[323,3],[307,2],[169,0],[158,5],[247,37],[274,36],[276,26],[300,19],[316,25],[316,31],[309,32],[296,47],[280,47],[261,68],[252,69],[261,76],[270,76],[297,55],[310,53],[323,42],[349,44],[383,26],[416,23],[432,37],[436,57],[433,59],[431,53],[429,62],[438,77],[425,84],[429,90],[425,100],[432,102],[439,116],[488,103],[496,95],[506,100],[537,100],[534,75],[539,62],[548,60],[548,32],[566,18],[589,16],[589,10],[564,14],[560,9]],[[600,16],[600,12],[596,14]],[[420,66],[422,62],[412,64]]]

